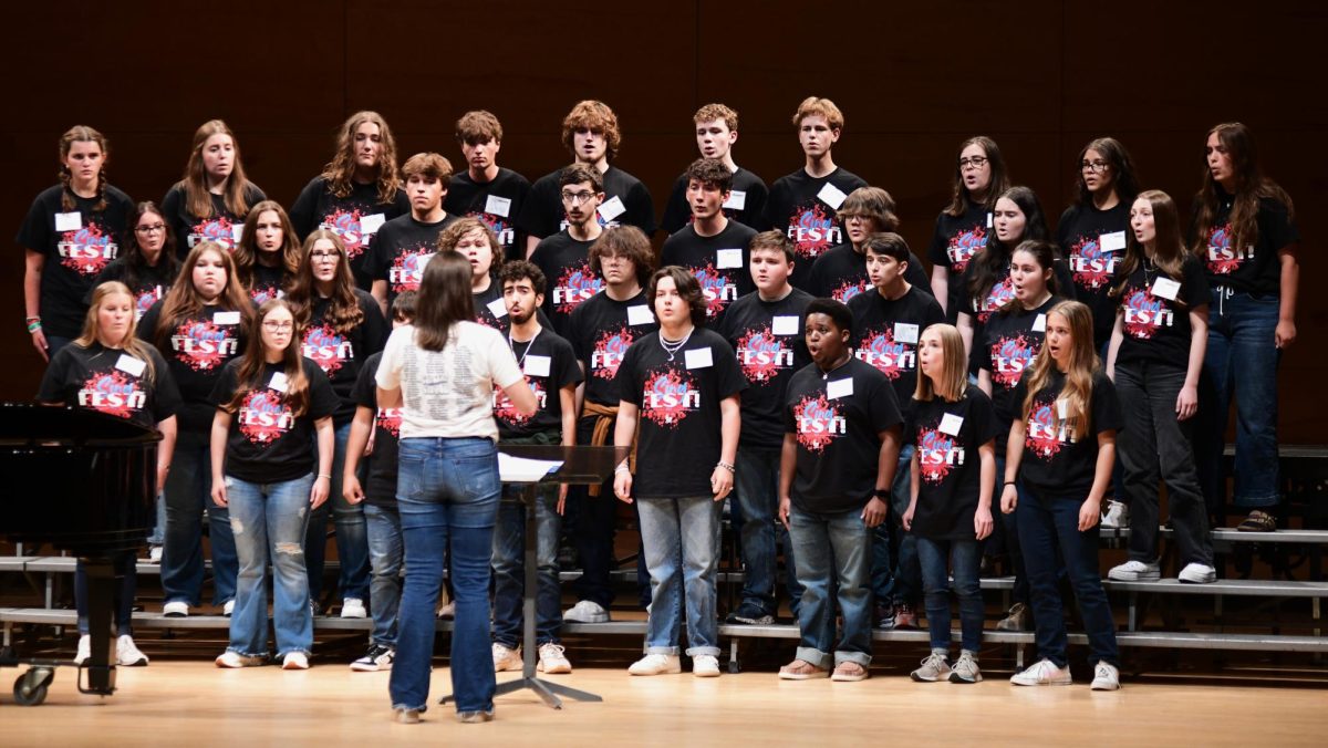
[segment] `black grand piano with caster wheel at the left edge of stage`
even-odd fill
[[[151,530],[158,441],[153,429],[96,411],[0,404],[0,534],[69,551],[88,573],[84,694],[116,691],[112,558],[141,547]],[[56,667],[73,664],[0,654],[0,667],[28,666],[13,690],[25,705],[45,700]]]

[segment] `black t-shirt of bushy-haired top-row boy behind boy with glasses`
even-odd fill
[[[544,174],[530,187],[530,199],[517,214],[517,230],[530,236],[547,238],[567,229],[558,169]],[[616,166],[604,171],[604,202],[599,206],[599,225],[636,226],[647,236],[655,233],[655,202],[640,179]]]

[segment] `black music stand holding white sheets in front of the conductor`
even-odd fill
[[[539,486],[542,485],[571,484],[598,486],[603,484],[614,474],[614,468],[627,458],[628,448],[499,444],[498,450],[511,457],[526,460],[560,460],[563,466],[539,481],[505,481],[507,485],[522,486],[521,500],[526,505],[526,593],[522,599],[521,678],[499,683],[497,691],[494,691],[494,696],[530,688],[555,709],[563,708],[563,701],[558,698],[559,694],[578,701],[603,701],[604,699],[595,694],[535,676],[535,595],[539,586],[539,569],[535,562],[535,551],[539,547],[535,502],[539,500]],[[612,497],[600,497],[600,501],[612,500]],[[446,704],[452,698],[452,694],[449,694],[438,699],[438,703]]]

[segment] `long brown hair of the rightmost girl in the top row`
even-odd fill
[[[1214,133],[1216,133],[1222,147],[1227,149],[1227,154],[1231,157],[1231,170],[1236,178],[1235,194],[1231,195],[1231,215],[1227,218],[1231,222],[1231,246],[1256,244],[1259,243],[1259,198],[1272,198],[1287,206],[1288,219],[1295,218],[1296,209],[1291,203],[1291,195],[1287,194],[1287,190],[1263,175],[1259,166],[1259,151],[1250,128],[1240,122],[1224,122],[1208,130],[1203,142],[1207,143],[1208,137]],[[1194,222],[1194,254],[1199,255],[1199,259],[1207,259],[1208,255],[1208,234],[1212,231],[1218,210],[1222,207],[1222,201],[1218,197],[1219,187],[1220,185],[1212,178],[1212,170],[1208,169],[1207,158],[1204,158],[1203,189],[1195,197],[1199,210]]]

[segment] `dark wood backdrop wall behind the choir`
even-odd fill
[[[1304,236],[1283,438],[1321,442],[1325,32],[1328,5],[1311,0],[27,3],[8,11],[0,45],[0,226],[13,236],[53,183],[57,138],[76,122],[109,136],[113,183],[161,199],[194,129],[224,118],[250,177],[290,205],[357,109],[388,118],[402,157],[438,150],[454,163],[452,124],[490,109],[506,129],[501,163],[534,179],[567,161],[558,129],[570,105],[600,98],[623,126],[618,163],[661,210],[695,158],[697,106],[741,113],[737,161],[770,182],[801,165],[789,117],[818,94],[846,114],[835,159],[890,190],[922,254],[956,145],[972,134],[995,137],[1015,181],[1054,217],[1088,140],[1122,140],[1145,185],[1185,206],[1204,132],[1240,120],[1295,198]],[[21,274],[12,246],[7,399],[29,397],[42,368],[20,320]]]

